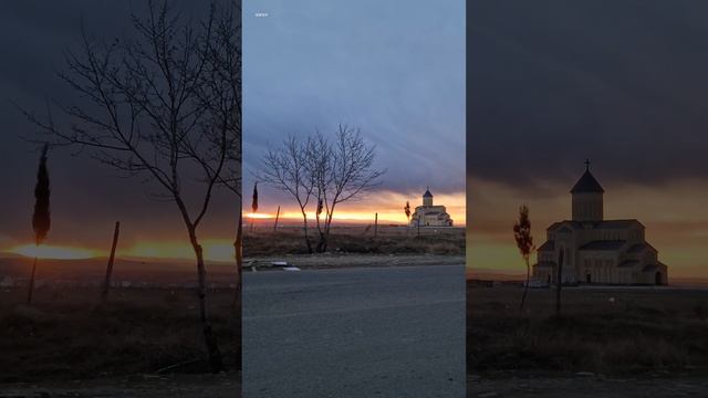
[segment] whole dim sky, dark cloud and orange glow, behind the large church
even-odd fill
[[[524,272],[519,206],[540,245],[589,158],[606,219],[644,223],[669,277],[708,276],[708,3],[468,7],[468,265]]]

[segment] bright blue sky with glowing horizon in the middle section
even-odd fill
[[[244,208],[267,148],[339,124],[361,128],[386,170],[339,221],[405,222],[405,201],[418,206],[429,186],[464,226],[465,1],[246,2]],[[278,206],[295,216],[292,199],[259,185],[259,213]]]

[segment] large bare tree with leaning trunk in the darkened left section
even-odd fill
[[[88,149],[105,165],[144,176],[157,198],[176,205],[195,252],[209,362],[220,371],[198,231],[215,188],[240,179],[240,56],[231,46],[238,11],[231,3],[212,3],[197,23],[168,1],[149,0],[147,8],[145,18],[132,18],[135,38],[103,43],[82,32],[81,53],[66,53],[67,71],[60,77],[82,101],[54,103],[67,119],[65,127],[51,109],[45,118],[25,115],[54,145]],[[196,202],[185,196],[188,181],[190,195],[200,191]]]

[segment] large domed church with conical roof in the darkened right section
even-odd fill
[[[667,284],[667,266],[644,239],[644,226],[637,220],[604,220],[604,189],[590,172],[590,161],[585,166],[571,190],[573,219],[548,228],[533,276],[555,283],[560,264],[563,283]]]

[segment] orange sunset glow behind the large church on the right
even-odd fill
[[[545,228],[571,217],[568,185],[548,185],[523,192],[485,180],[470,180],[472,208],[467,230],[467,264],[471,269],[524,273],[525,265],[516,247],[512,226],[519,206],[530,208],[534,242],[545,240]],[[647,240],[670,266],[670,277],[708,277],[708,211],[702,203],[708,186],[684,180],[662,186],[605,185],[605,217],[638,219]],[[650,198],[650,199],[647,199]],[[535,258],[532,259],[532,262]]]

